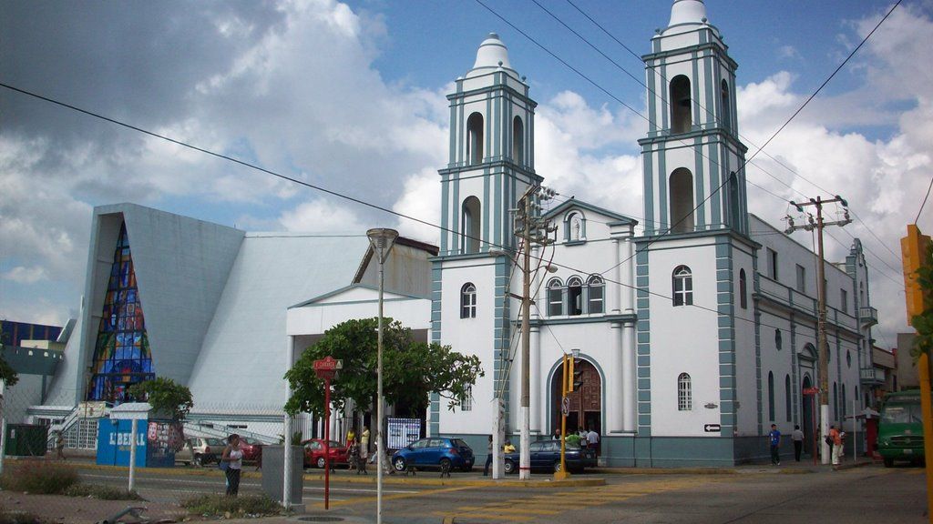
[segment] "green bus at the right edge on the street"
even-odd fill
[[[895,461],[923,462],[924,422],[917,390],[884,396],[878,423],[878,452],[885,467]]]

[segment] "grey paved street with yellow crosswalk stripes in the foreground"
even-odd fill
[[[782,523],[826,520],[926,522],[923,469],[878,465],[843,471],[737,468],[731,475],[650,474],[587,475],[605,478],[605,486],[582,488],[516,488],[470,486],[477,476],[454,476],[448,485],[396,483],[383,491],[385,522],[580,522],[638,523]],[[214,473],[214,472],[211,472]],[[178,500],[197,492],[223,489],[211,476],[139,476],[142,494],[154,502]],[[124,483],[125,473],[86,470],[88,480]],[[433,475],[416,477],[433,481]],[[480,477],[481,478],[481,477]],[[324,511],[323,483],[305,481],[306,516],[341,517],[345,522],[374,521],[374,484],[339,473]],[[352,480],[354,482],[345,482]],[[403,479],[411,481],[415,479]],[[244,478],[242,492],[258,492],[259,478]],[[295,518],[290,520],[294,521]]]

